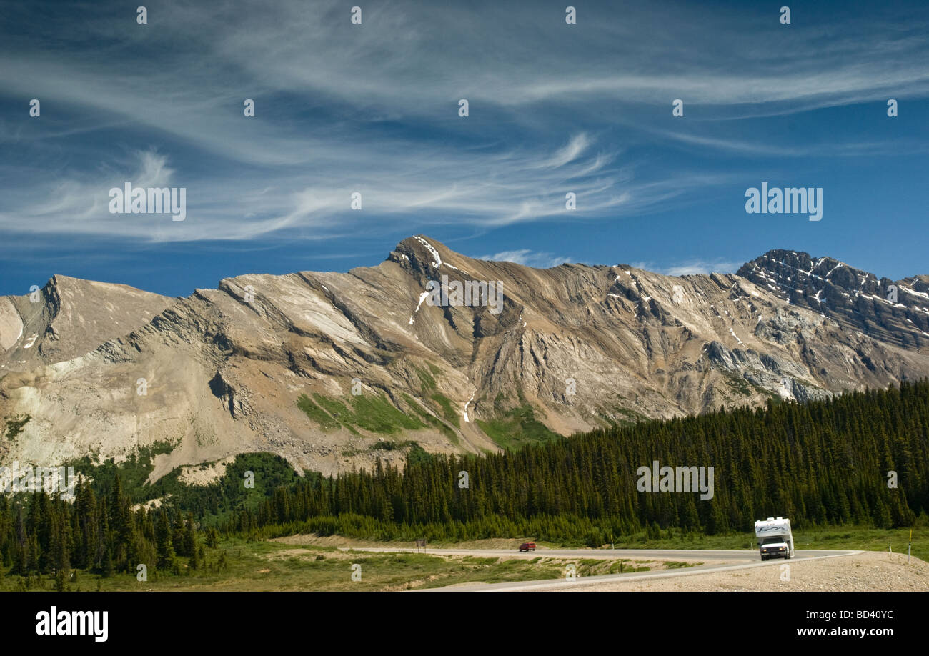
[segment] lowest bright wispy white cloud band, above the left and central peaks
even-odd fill
[[[507,225],[567,214],[568,190],[582,199],[579,214],[610,209],[622,214],[624,205],[631,210],[660,193],[644,183],[620,189],[618,182],[628,179],[629,171],[612,164],[614,155],[593,152],[590,145],[581,134],[554,151],[464,151],[450,160],[434,146],[398,155],[392,152],[396,143],[379,141],[334,148],[330,158],[343,161],[325,176],[285,167],[255,171],[234,185],[208,171],[181,173],[158,151],[129,151],[89,170],[36,176],[32,186],[9,190],[0,230],[173,242],[283,237],[312,227],[321,238],[370,229],[373,215],[381,217],[382,228],[391,221],[409,225],[417,219],[435,225],[442,220],[437,215]],[[108,192],[125,181],[137,187],[186,188],[188,219],[171,225],[159,215],[110,214]],[[350,209],[355,191],[361,193],[362,212]]]

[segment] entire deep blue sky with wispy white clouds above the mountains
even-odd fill
[[[189,295],[374,266],[417,233],[532,266],[790,248],[929,273],[924,2],[575,1],[574,25],[565,2],[241,5],[5,7],[0,294]],[[187,218],[111,214],[126,181],[186,188]],[[747,214],[762,181],[821,187],[822,220]]]

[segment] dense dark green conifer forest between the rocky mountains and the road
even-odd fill
[[[249,537],[534,535],[591,545],[655,527],[750,531],[756,518],[771,515],[790,517],[797,528],[908,526],[925,520],[929,507],[929,382],[824,401],[772,400],[762,409],[595,430],[487,456],[408,458],[403,471],[378,461],[373,472],[297,478],[255,454],[240,458],[215,484],[173,488],[148,512],[133,512],[118,477],[103,480],[102,471],[93,485],[78,486],[73,504],[44,492],[0,496],[0,558],[13,573],[67,563],[103,572],[129,571],[136,562],[167,568],[175,555],[196,567],[195,526],[208,545],[216,544],[216,526]],[[713,466],[713,498],[639,492],[636,471],[655,460]],[[242,472],[262,466],[256,479],[273,485],[249,491],[258,498],[243,495]],[[896,487],[888,472],[896,472]],[[218,513],[216,498],[226,508]]]

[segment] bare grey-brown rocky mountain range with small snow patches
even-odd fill
[[[498,307],[428,290],[496,285]],[[485,296],[486,299],[486,296]],[[498,311],[499,310],[499,311]],[[238,453],[323,473],[929,375],[929,276],[772,250],[735,274],[532,269],[424,235],[376,267],[183,298],[56,275],[0,297],[0,463],[196,480]],[[204,473],[205,472],[205,473]]]

